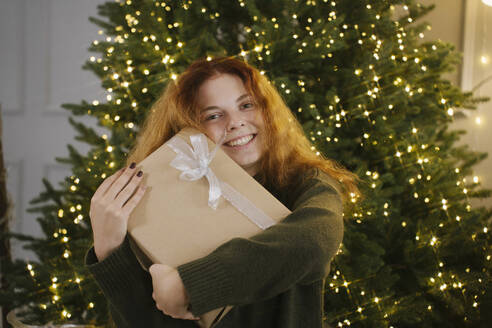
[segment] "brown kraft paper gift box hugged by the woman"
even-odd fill
[[[176,268],[210,254],[232,238],[251,237],[290,213],[195,129],[183,129],[139,166],[150,188],[130,215],[128,232],[144,269],[152,263]],[[190,181],[204,172],[207,176]],[[198,325],[212,327],[231,308],[203,314]]]

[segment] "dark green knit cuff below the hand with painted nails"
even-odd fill
[[[121,290],[133,287],[141,281],[145,271],[133,254],[128,238],[108,257],[99,262],[92,247],[86,254],[85,264],[108,297],[117,296]]]

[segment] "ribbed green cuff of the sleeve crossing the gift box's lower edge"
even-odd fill
[[[231,299],[232,278],[215,254],[182,264],[177,270],[194,315],[230,305],[227,302]]]

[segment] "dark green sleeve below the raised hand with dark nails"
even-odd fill
[[[122,327],[196,328],[190,320],[178,320],[160,311],[152,298],[152,277],[133,254],[128,237],[103,261],[91,247],[85,265],[108,301],[111,317]]]

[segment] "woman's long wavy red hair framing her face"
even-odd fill
[[[316,155],[300,123],[268,79],[256,68],[233,57],[193,62],[175,81],[167,84],[153,104],[138,133],[127,165],[140,162],[184,127],[204,132],[200,126],[197,95],[200,86],[218,74],[238,76],[253,96],[265,122],[264,148],[259,165],[259,182],[284,187],[303,172],[319,168],[340,183],[345,198],[358,194],[357,176],[334,160]],[[288,142],[286,142],[288,141]]]

